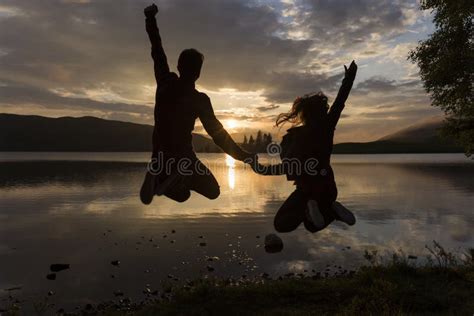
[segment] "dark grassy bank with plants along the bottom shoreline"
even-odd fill
[[[474,248],[460,254],[436,242],[426,248],[426,258],[366,251],[367,265],[357,271],[204,277],[160,291],[145,289],[138,303],[116,293],[116,301],[88,304],[72,314],[47,297],[34,307],[38,315],[472,315]],[[22,314],[13,299],[3,312]]]

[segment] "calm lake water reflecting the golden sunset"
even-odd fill
[[[338,200],[357,224],[280,234],[277,254],[265,253],[263,239],[292,183],[224,154],[200,157],[221,185],[217,200],[193,193],[183,204],[160,197],[144,206],[146,153],[0,153],[0,308],[8,294],[30,304],[53,291],[51,302],[72,309],[204,275],[352,269],[364,250],[422,260],[432,240],[474,247],[474,163],[463,155],[335,155]],[[71,268],[49,281],[52,263]],[[2,290],[12,287],[21,289]]]

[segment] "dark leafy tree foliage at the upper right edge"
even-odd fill
[[[447,115],[443,134],[474,151],[474,1],[422,0],[434,13],[436,31],[409,54],[417,63],[433,106]]]

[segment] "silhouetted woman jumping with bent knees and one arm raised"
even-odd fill
[[[337,187],[330,163],[334,131],[351,91],[357,65],[353,61],[349,69],[346,66],[344,69],[345,77],[331,108],[328,98],[319,92],[297,98],[288,113],[278,116],[277,126],[286,122],[300,126],[290,128],[283,137],[281,164],[255,168],[264,175],[286,174],[288,180],[295,182],[296,190],[275,216],[274,225],[279,232],[293,231],[301,223],[311,232],[325,228],[335,219],[349,225],[355,223],[354,215],[336,201]],[[315,164],[308,164],[310,160]]]

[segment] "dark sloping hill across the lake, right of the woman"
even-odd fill
[[[336,144],[334,152],[341,154],[463,152],[462,148],[455,145],[453,141],[439,136],[442,124],[442,118],[430,118],[374,142]]]

